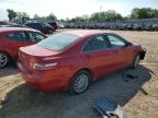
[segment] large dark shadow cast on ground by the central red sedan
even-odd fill
[[[94,82],[81,95],[66,92],[41,93],[27,84],[10,91],[0,109],[2,118],[99,118],[93,110],[93,101],[101,96],[126,105],[138,92],[148,93],[142,87],[151,79],[153,71],[144,66],[126,69]],[[136,78],[129,78],[127,75]],[[8,114],[9,113],[9,114]]]

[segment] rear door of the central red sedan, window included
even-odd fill
[[[113,52],[103,35],[91,37],[83,47],[88,68],[92,70],[94,79],[112,71]]]

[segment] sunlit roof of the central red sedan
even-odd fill
[[[105,34],[104,31],[100,31],[100,30],[71,30],[71,31],[65,31],[63,33],[77,35],[80,37],[98,35],[98,34]]]

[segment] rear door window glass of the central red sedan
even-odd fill
[[[88,40],[83,47],[83,51],[101,50],[106,48],[109,48],[109,44],[106,43],[104,36],[95,36]]]

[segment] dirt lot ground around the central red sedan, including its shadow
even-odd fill
[[[101,118],[93,109],[100,96],[116,101],[128,118],[158,118],[158,33],[114,32],[147,48],[139,68],[126,69],[105,76],[88,92],[71,96],[68,93],[40,93],[23,82],[16,69],[0,70],[0,99],[7,96],[0,118]],[[127,79],[126,73],[138,79]]]

